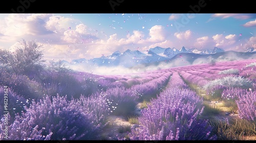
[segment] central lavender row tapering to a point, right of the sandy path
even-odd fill
[[[140,126],[132,128],[129,137],[131,140],[217,139],[207,121],[199,119],[203,108],[202,99],[175,72],[166,89],[141,111]]]

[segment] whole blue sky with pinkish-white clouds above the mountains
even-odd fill
[[[44,44],[46,59],[91,59],[127,49],[196,47],[244,52],[256,47],[256,14],[0,14],[0,48]]]

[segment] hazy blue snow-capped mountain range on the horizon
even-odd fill
[[[228,57],[227,53],[229,53],[229,55],[230,53],[232,53],[231,55],[233,55],[234,53],[237,53],[235,55],[238,55],[240,59],[241,58],[246,59],[248,58],[248,55],[250,57],[251,55],[256,54],[256,48],[249,47],[246,52],[234,52],[234,51],[230,52],[230,51],[224,51],[219,47],[214,47],[213,49],[206,49],[206,50],[200,51],[196,48],[186,49],[184,46],[181,47],[180,50],[177,50],[175,47],[163,48],[160,46],[156,46],[154,48],[149,49],[145,53],[144,52],[142,53],[138,50],[131,51],[128,49],[123,53],[116,51],[108,56],[101,56],[99,58],[93,58],[93,59],[81,58],[81,59],[72,60],[71,62],[68,62],[65,60],[63,60],[62,62],[69,66],[72,66],[72,65],[108,66],[108,67],[123,66],[123,67],[131,68],[141,64],[152,65],[152,64],[158,64],[159,62],[177,61],[177,58],[183,58],[185,61],[185,57],[188,59],[190,58],[192,59],[190,59],[190,61],[186,60],[187,62],[184,62],[184,63],[193,64],[191,63],[191,61],[195,61],[196,59],[200,59],[200,58],[201,60],[202,58],[204,60],[207,60],[207,57],[209,56],[215,57],[215,59],[218,59],[218,58],[225,59],[225,57],[226,58]],[[216,55],[219,55],[219,57]],[[220,58],[220,56],[222,57]],[[233,58],[233,57],[231,56],[229,58]]]

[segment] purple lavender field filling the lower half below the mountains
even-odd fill
[[[108,139],[102,134],[111,128],[109,117],[113,115],[136,120],[130,129],[126,127],[127,132],[113,137],[118,140],[240,140],[255,136],[255,63],[255,59],[225,61],[115,76],[45,70],[37,79],[1,68],[5,79],[0,80],[0,94],[8,90],[5,108],[9,112],[8,122],[7,115],[1,114],[0,138],[5,139],[8,124],[10,140]],[[239,115],[237,124],[246,122],[254,129],[232,132],[234,125],[225,115],[225,121],[214,121],[210,112],[216,108],[206,109],[205,101],[217,100],[232,102],[237,107],[233,114]],[[145,106],[138,106],[142,104]],[[5,108],[0,106],[0,112]]]

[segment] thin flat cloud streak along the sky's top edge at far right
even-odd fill
[[[228,17],[233,17],[236,19],[248,19],[255,17],[254,14],[237,14],[237,13],[216,13],[213,14],[212,17],[221,17],[222,19],[228,18]]]

